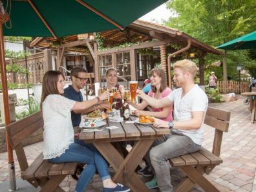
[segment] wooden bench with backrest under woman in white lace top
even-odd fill
[[[78,163],[52,164],[44,160],[43,153],[41,153],[32,164],[28,165],[22,142],[38,129],[43,129],[41,111],[6,126],[10,144],[16,151],[21,168],[21,178],[30,182],[34,187],[40,186],[41,192],[64,192],[59,184],[67,175],[74,175]]]

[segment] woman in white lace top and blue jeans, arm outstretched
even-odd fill
[[[54,164],[66,162],[87,164],[76,185],[76,192],[85,191],[96,169],[103,181],[103,192],[130,191],[129,187],[112,181],[107,162],[98,151],[74,143],[70,111],[88,109],[107,99],[108,95],[101,94],[92,100],[78,102],[61,96],[64,93],[64,86],[64,76],[57,70],[49,70],[43,76],[40,105],[44,122],[43,158]]]

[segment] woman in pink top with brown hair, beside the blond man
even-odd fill
[[[149,97],[160,100],[171,93],[171,89],[166,85],[165,72],[163,69],[154,68],[151,70],[149,76],[151,80],[151,91],[149,91],[149,93],[147,94]],[[138,109],[138,111],[133,111],[133,114],[137,116],[140,116],[140,114],[144,114],[160,118],[161,120],[167,122],[173,121],[172,105],[166,105],[165,107],[161,108],[153,107],[152,111],[142,111],[148,105],[146,101],[142,101],[142,103],[130,103],[130,105],[132,105],[135,109]],[[147,162],[146,166],[143,169],[138,170],[137,173],[144,176],[153,175],[151,167],[149,167],[149,164],[147,164]]]

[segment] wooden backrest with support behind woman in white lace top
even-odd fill
[[[21,142],[26,140],[28,136],[35,133],[38,129],[42,128],[43,116],[41,111],[6,126],[10,144],[16,151],[17,160],[19,161],[21,171],[25,171],[28,167],[27,157]]]

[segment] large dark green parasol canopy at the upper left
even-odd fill
[[[122,28],[144,16],[167,0],[83,0]],[[8,2],[8,8],[6,8]],[[116,29],[115,25],[98,16],[76,0],[32,0],[37,10],[57,37]],[[4,0],[10,22],[4,25],[4,36],[52,37],[28,1]]]

